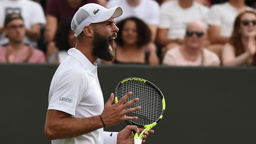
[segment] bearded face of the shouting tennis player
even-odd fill
[[[92,40],[92,55],[107,61],[113,60],[114,39],[117,37],[118,30],[113,18],[97,25]]]

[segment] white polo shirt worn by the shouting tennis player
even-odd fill
[[[48,110],[59,110],[73,117],[100,115],[104,109],[103,93],[92,65],[78,49],[68,50],[52,78]],[[70,139],[52,140],[52,144],[117,143],[117,133],[103,133],[103,128]]]

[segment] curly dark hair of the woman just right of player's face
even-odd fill
[[[119,32],[117,32],[118,37],[116,39],[116,43],[119,46],[123,46],[123,44],[124,44],[122,33],[123,33],[124,24],[127,21],[134,21],[136,23],[137,38],[138,38],[137,45],[139,47],[144,46],[145,44],[148,44],[151,41],[151,30],[149,29],[148,25],[146,25],[139,18],[129,17],[129,18],[121,20],[119,23],[117,23],[117,27],[119,28]]]

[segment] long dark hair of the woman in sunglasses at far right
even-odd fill
[[[235,56],[239,56],[245,52],[246,47],[242,43],[242,34],[239,32],[241,27],[241,18],[244,14],[254,14],[256,16],[256,12],[254,11],[243,11],[236,18],[233,23],[233,32],[231,38],[229,39],[229,43],[235,48]],[[255,37],[256,39],[256,37]],[[254,62],[256,57],[254,56]]]

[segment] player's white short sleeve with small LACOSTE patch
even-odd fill
[[[59,110],[75,116],[76,106],[88,86],[79,71],[69,70],[56,81],[48,110]],[[85,90],[84,90],[85,89]]]

